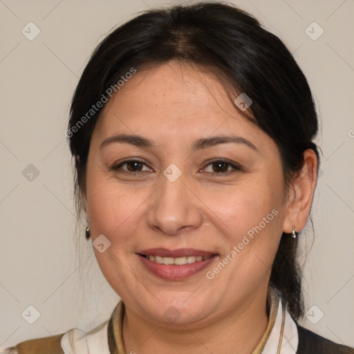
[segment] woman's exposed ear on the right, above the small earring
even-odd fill
[[[304,151],[304,166],[293,178],[286,202],[283,232],[287,234],[292,232],[292,225],[295,225],[295,231],[299,232],[307,223],[317,183],[317,165],[315,151],[313,149]]]

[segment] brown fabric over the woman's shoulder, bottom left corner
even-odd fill
[[[30,339],[25,342],[0,350],[1,354],[64,354],[61,346],[62,335]]]

